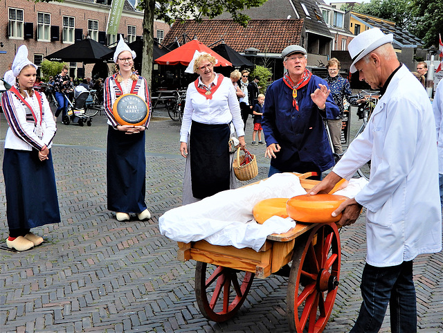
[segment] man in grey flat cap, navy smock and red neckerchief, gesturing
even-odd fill
[[[269,177],[279,172],[318,173],[334,165],[323,118],[339,114],[325,80],[306,69],[306,50],[298,45],[282,52],[287,73],[266,91],[262,128]]]

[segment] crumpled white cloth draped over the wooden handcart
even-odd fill
[[[213,245],[232,245],[237,249],[260,250],[266,237],[285,233],[296,226],[293,219],[269,219],[257,224],[252,210],[255,204],[275,197],[304,195],[300,179],[294,174],[274,174],[251,186],[219,192],[193,204],[173,208],[159,219],[162,235],[177,242],[206,240]]]

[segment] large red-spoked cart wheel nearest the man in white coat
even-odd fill
[[[287,316],[291,332],[317,333],[323,332],[337,294],[340,237],[336,224],[319,224],[305,240],[300,238],[292,255]]]

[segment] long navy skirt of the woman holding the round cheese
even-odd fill
[[[145,132],[125,134],[109,126],[106,161],[108,209],[143,212],[147,208]]]

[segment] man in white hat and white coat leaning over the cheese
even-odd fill
[[[370,180],[333,216],[338,225],[366,212],[367,256],[363,303],[351,332],[379,332],[390,304],[392,332],[417,332],[413,259],[442,249],[435,122],[426,91],[397,60],[392,35],[366,30],[349,44],[350,70],[380,89],[381,98],[360,136],[311,195],[329,192],[371,160]]]

